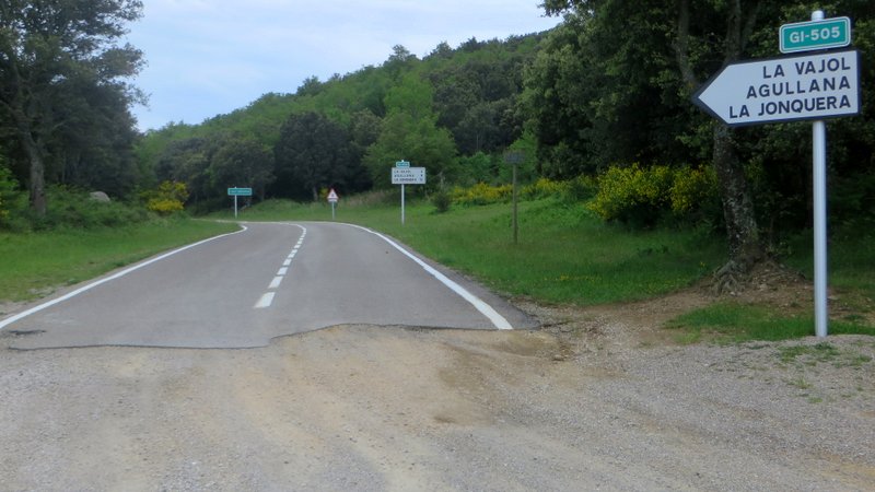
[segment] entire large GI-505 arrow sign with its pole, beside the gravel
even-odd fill
[[[822,51],[851,44],[848,17],[785,24],[781,51],[814,55],[730,63],[692,96],[692,102],[727,126],[814,120],[814,308],[815,335],[828,331],[827,304],[827,130],[824,118],[860,113],[860,52]]]

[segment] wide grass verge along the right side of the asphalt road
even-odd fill
[[[213,215],[228,218],[228,213]],[[268,201],[241,214],[253,221],[330,221],[330,207]],[[695,231],[629,231],[605,224],[583,204],[520,203],[520,241],[511,206],[454,207],[436,213],[413,201],[337,209],[337,221],[364,225],[512,296],[594,305],[638,301],[688,286],[725,259],[720,238]]]

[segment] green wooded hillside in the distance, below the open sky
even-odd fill
[[[491,183],[510,145],[534,149],[520,98],[541,39],[472,38],[422,59],[396,46],[380,67],[311,78],[292,94],[266,94],[201,125],[151,131],[138,155],[154,179],[188,184],[201,210],[225,203],[234,183],[258,198],[296,200],[326,187],[386,187],[400,159],[428,167],[435,184]]]

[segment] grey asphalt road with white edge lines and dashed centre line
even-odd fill
[[[16,349],[253,348],[337,325],[532,328],[480,285],[338,223],[246,223],[16,316]]]

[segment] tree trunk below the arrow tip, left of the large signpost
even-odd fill
[[[744,166],[738,162],[732,133],[725,125],[714,127],[714,169],[723,200],[723,216],[734,270],[746,272],[765,256],[754,202]]]

